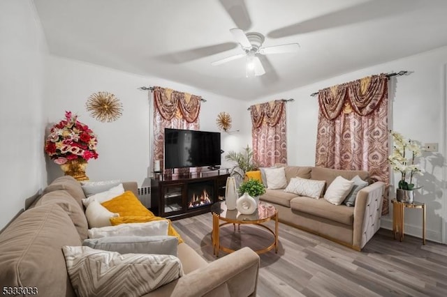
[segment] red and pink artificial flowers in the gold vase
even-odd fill
[[[58,165],[68,160],[98,158],[98,139],[88,125],[78,121],[78,116],[65,112],[65,119],[55,124],[45,142],[45,153]]]

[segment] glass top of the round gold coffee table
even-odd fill
[[[259,201],[258,209],[251,215],[242,215],[237,209],[230,211],[226,208],[225,201],[217,202],[211,206],[211,212],[216,213],[220,218],[226,218],[228,220],[241,220],[241,221],[259,221],[272,218],[277,209],[264,201]]]

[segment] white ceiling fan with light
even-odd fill
[[[235,59],[240,59],[244,56],[247,57],[246,64],[246,76],[260,76],[265,74],[265,69],[261,60],[256,56],[257,54],[283,54],[287,52],[298,52],[300,45],[298,43],[289,43],[286,45],[274,45],[271,47],[263,47],[264,36],[261,33],[249,32],[244,33],[241,29],[230,29],[233,34],[233,38],[240,44],[244,53],[236,54],[234,56],[228,56],[224,59],[214,61],[212,66],[217,66]]]

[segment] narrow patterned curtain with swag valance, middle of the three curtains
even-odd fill
[[[286,102],[274,100],[250,107],[253,159],[260,167],[287,162]]]

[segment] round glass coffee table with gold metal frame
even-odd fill
[[[264,252],[268,252],[274,248],[274,252],[278,252],[278,211],[277,208],[272,206],[272,204],[268,204],[264,201],[259,201],[258,209],[252,213],[251,215],[242,215],[237,209],[233,211],[229,211],[226,208],[225,201],[217,202],[211,207],[212,213],[212,233],[211,233],[211,241],[213,254],[216,257],[219,257],[219,250],[223,252],[234,252],[227,247],[223,247],[220,245],[219,240],[219,230],[222,226],[226,224],[233,224],[234,231],[237,229],[240,231],[241,224],[253,224],[264,229],[267,229],[273,235],[273,242],[268,245],[268,247],[263,248],[261,250],[255,250],[257,254],[263,254]],[[270,229],[268,226],[265,226],[265,222],[270,220],[274,220],[274,231]],[[223,221],[221,223],[221,221]],[[268,239],[268,238],[266,238]]]

